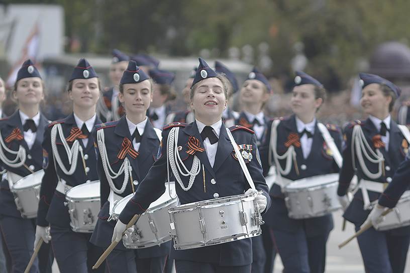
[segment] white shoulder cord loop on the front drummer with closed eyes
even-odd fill
[[[199,164],[199,159],[196,156],[193,156],[193,162],[192,162],[192,167],[191,170],[188,171],[186,168],[185,164],[182,162],[179,153],[178,153],[178,133],[179,133],[179,127],[173,127],[169,134],[168,134],[168,140],[167,140],[167,166],[169,165],[171,167],[172,173],[174,174],[174,177],[178,184],[181,186],[181,188],[184,191],[188,191],[192,185],[193,181],[195,180],[196,175],[199,174],[200,171],[200,164]],[[178,159],[178,161],[175,160],[175,158]],[[186,173],[183,173],[180,165],[184,168]],[[189,183],[188,186],[185,187],[182,183],[182,180],[179,176],[179,173],[183,176],[190,176],[189,177]],[[169,181],[169,169],[168,169],[168,181]]]

